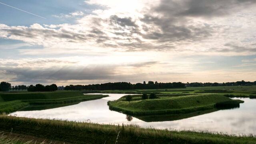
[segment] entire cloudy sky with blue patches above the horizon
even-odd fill
[[[0,3],[12,85],[256,81],[255,0]]]

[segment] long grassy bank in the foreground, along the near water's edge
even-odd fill
[[[0,116],[0,130],[78,144],[256,144],[256,138]],[[118,134],[119,133],[119,134]]]

